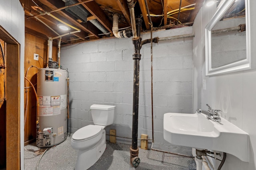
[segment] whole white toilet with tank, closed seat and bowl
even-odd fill
[[[94,125],[87,125],[78,129],[72,136],[71,146],[78,149],[75,170],[90,168],[102,156],[106,149],[105,127],[114,121],[116,106],[93,104],[92,120]]]

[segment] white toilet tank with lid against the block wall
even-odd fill
[[[116,106],[93,104],[92,120],[94,125],[107,126],[114,122],[114,109]]]

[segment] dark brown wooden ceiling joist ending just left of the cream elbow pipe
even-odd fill
[[[78,2],[82,2],[82,0],[78,0]],[[112,23],[108,20],[108,17],[104,13],[104,11],[98,6],[95,1],[86,2],[82,4],[86,10],[88,10],[95,18],[106,28],[110,33],[112,33]]]

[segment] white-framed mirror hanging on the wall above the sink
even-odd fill
[[[249,4],[250,0],[222,0],[206,25],[206,76],[256,68]]]

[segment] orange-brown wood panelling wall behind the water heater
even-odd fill
[[[45,68],[48,53],[48,41],[40,37],[36,37],[29,33],[25,33],[25,57],[24,57],[24,76],[30,66]],[[38,54],[38,61],[34,60],[34,53]],[[57,61],[57,43],[53,43],[52,59]],[[43,58],[43,59],[42,59]],[[32,67],[28,70],[27,77],[32,84],[36,84],[37,68]],[[25,80],[25,87],[30,84]],[[36,85],[34,86],[36,88]],[[27,103],[26,103],[27,102]],[[25,145],[36,139],[36,96],[32,88],[24,89],[24,142]]]

